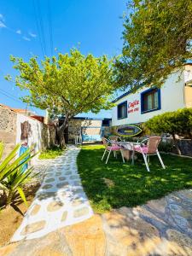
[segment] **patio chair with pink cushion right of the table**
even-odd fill
[[[161,166],[163,167],[163,169],[166,169],[166,167],[164,166],[163,160],[160,157],[160,153],[158,151],[159,144],[160,144],[160,137],[154,136],[154,137],[145,138],[141,143],[138,143],[137,145],[134,146],[135,152],[143,154],[143,159],[148,172],[150,172],[148,167],[148,158],[149,158],[149,155],[154,155],[154,154],[157,154],[157,156],[159,157]],[[132,157],[134,157],[134,155]]]

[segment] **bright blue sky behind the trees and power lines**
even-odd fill
[[[35,19],[35,8],[40,3],[44,25],[45,50],[51,55],[49,40],[50,3],[53,49],[65,53],[78,46],[84,54],[119,55],[122,49],[125,0],[1,0],[0,1],[0,103],[13,108],[26,108],[19,97],[24,95],[14,83],[3,79],[5,74],[15,76],[9,55],[20,56],[26,61],[32,55],[42,58],[42,47]],[[7,96],[8,95],[8,96]],[[43,111],[31,108],[36,113]],[[82,114],[95,116],[94,114]],[[102,111],[96,117],[110,117]]]

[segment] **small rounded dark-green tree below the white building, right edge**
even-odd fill
[[[192,139],[192,108],[183,108],[173,112],[166,112],[154,116],[144,124],[144,126],[158,134],[170,133],[177,148],[177,153],[181,151],[177,145],[176,135],[187,136]]]

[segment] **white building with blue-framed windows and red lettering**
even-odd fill
[[[114,103],[112,126],[138,124],[160,113],[192,108],[192,65],[185,65],[182,73],[172,73],[160,89],[128,91]]]

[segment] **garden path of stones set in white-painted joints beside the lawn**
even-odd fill
[[[93,215],[78,174],[78,154],[79,148],[72,146],[61,157],[49,161],[44,182],[11,241],[45,236]]]

